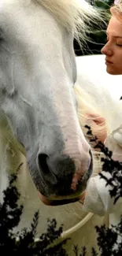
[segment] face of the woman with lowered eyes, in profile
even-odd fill
[[[106,31],[107,43],[102,48],[105,54],[106,71],[112,75],[122,74],[122,22],[111,17]]]

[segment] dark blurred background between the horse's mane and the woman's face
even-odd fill
[[[113,5],[113,0],[87,0],[91,6],[95,6],[99,9],[103,9],[106,13],[109,13],[110,6]],[[105,21],[107,17],[105,17]],[[108,23],[108,22],[107,22]],[[88,34],[89,40],[83,44],[82,50],[79,47],[79,44],[74,40],[74,49],[76,56],[89,55],[89,54],[101,54],[102,46],[105,44],[106,35],[105,35],[106,25],[102,24],[102,29],[98,24],[92,26],[91,33]]]

